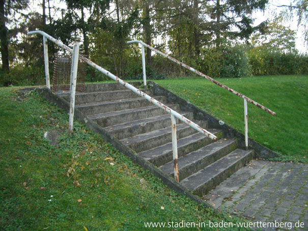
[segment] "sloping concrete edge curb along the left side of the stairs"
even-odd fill
[[[63,98],[54,95],[50,89],[47,88],[39,88],[37,89],[38,93],[47,101],[55,103],[58,107],[64,109],[65,111],[69,112],[70,104],[69,102],[65,101]],[[105,142],[111,143],[117,150],[119,150],[124,155],[128,156],[134,163],[142,166],[143,168],[149,170],[155,177],[158,177],[162,180],[162,182],[170,187],[171,189],[175,190],[177,193],[184,195],[198,204],[204,205],[206,208],[211,208],[215,212],[221,213],[218,209],[213,208],[210,204],[206,201],[202,200],[199,196],[192,194],[188,189],[184,186],[176,182],[173,178],[169,175],[166,175],[162,170],[158,167],[151,164],[149,161],[144,160],[142,157],[136,155],[136,153],[127,148],[123,143],[118,140],[115,136],[111,135],[109,132],[101,128],[98,124],[96,124],[91,119],[87,118],[81,111],[75,108],[74,111],[74,118],[77,119],[80,123],[85,124],[88,128],[92,129],[94,132],[100,134]]]

